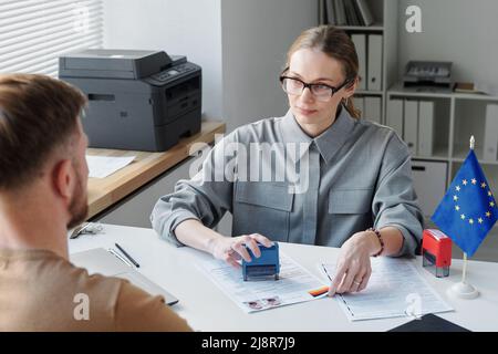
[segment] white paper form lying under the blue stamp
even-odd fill
[[[241,269],[216,259],[199,261],[198,266],[247,313],[323,298],[329,290],[319,278],[281,251],[279,280],[243,281]]]

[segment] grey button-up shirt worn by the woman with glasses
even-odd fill
[[[234,236],[341,247],[357,231],[393,226],[404,237],[395,256],[418,250],[423,216],[406,144],[390,127],[353,118],[344,108],[315,138],[290,111],[241,126],[151,216],[159,236],[177,244],[174,230],[181,221],[212,228],[230,211]]]

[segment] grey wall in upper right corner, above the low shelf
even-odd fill
[[[404,29],[409,4],[421,7],[423,33]],[[400,75],[408,60],[453,61],[457,81],[498,83],[497,17],[496,0],[401,0]]]

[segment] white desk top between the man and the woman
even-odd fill
[[[195,266],[198,257],[210,257],[191,248],[176,248],[152,229],[104,225],[104,235],[82,235],[70,240],[70,253],[118,242],[141,264],[139,271],[174,293],[174,309],[198,331],[386,331],[409,319],[350,322],[334,299],[325,298],[259,313],[246,314]],[[339,249],[280,243],[281,250],[319,275],[315,263],[334,260]],[[470,261],[468,279],[480,291],[475,300],[448,298],[446,289],[461,278],[461,261],[454,260],[450,277],[436,279],[413,260],[421,273],[455,309],[439,316],[473,331],[498,331],[498,263]]]

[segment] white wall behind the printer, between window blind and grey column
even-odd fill
[[[203,67],[205,117],[222,117],[220,0],[104,0],[104,46],[186,55]]]

